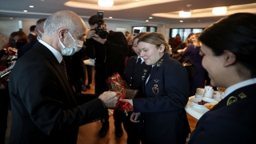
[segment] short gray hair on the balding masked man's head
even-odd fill
[[[78,18],[80,17],[77,14],[69,10],[62,10],[51,14],[44,23],[44,34],[48,37],[53,37],[61,28],[66,28],[70,31],[70,34],[73,34],[80,24]]]

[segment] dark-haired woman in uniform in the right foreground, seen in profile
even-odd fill
[[[199,40],[210,84],[226,91],[199,119],[190,144],[255,143],[256,15],[231,14],[206,28]]]

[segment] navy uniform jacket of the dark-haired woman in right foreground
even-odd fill
[[[190,144],[255,143],[256,84],[234,90],[203,114],[190,137]]]

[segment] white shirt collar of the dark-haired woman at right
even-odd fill
[[[234,84],[233,86],[230,86],[230,87],[226,88],[222,99],[226,98],[226,96],[228,94],[231,94],[234,90],[238,90],[241,87],[249,86],[249,85],[252,85],[252,84],[255,84],[255,83],[256,83],[256,78],[251,78],[251,79],[248,79],[248,80],[243,81],[243,82],[238,82],[238,83]]]

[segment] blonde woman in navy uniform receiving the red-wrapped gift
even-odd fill
[[[185,143],[190,133],[184,110],[189,98],[186,69],[170,58],[162,34],[154,32],[139,38],[138,50],[150,69],[142,83],[144,98],[123,100],[133,105],[130,121],[142,126],[142,144]]]

